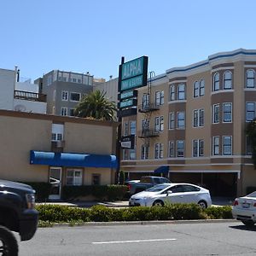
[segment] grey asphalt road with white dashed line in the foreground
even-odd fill
[[[40,228],[19,255],[256,255],[256,226],[240,222]]]

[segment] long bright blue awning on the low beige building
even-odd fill
[[[30,151],[30,164],[43,166],[75,166],[117,168],[116,156],[112,154],[77,154]]]

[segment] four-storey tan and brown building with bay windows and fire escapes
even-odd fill
[[[120,170],[130,179],[160,166],[172,182],[196,183],[213,196],[244,195],[256,186],[247,123],[256,117],[256,50],[210,55],[174,67],[138,89],[137,115],[122,120]]]

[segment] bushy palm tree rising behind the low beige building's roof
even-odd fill
[[[74,114],[79,117],[115,120],[115,113],[117,112],[115,102],[109,102],[105,96],[106,92],[100,90],[95,90],[84,96],[75,108]]]

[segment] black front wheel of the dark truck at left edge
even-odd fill
[[[18,255],[18,243],[12,231],[0,226],[0,254]]]

